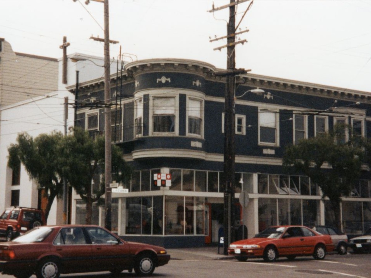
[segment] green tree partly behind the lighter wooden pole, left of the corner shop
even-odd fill
[[[93,203],[98,202],[101,205],[104,201],[104,136],[93,139],[87,131],[75,128],[72,135],[65,137],[60,148],[65,159],[62,162],[63,172],[66,173],[69,184],[86,203],[85,223],[91,224]],[[112,168],[112,179],[118,182],[128,181],[131,169],[116,145],[112,145]],[[92,182],[95,183],[94,186]]]

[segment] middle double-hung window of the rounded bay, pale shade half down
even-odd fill
[[[153,98],[153,133],[175,133],[175,97]]]

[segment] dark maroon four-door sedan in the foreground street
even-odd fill
[[[127,242],[95,225],[40,226],[0,243],[0,272],[17,278],[133,269],[146,276],[169,260],[160,246]]]

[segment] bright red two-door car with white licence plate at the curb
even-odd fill
[[[239,261],[263,258],[273,262],[279,256],[289,260],[296,256],[313,256],[322,260],[326,252],[334,250],[331,236],[322,235],[305,226],[272,226],[254,238],[243,239],[229,245],[228,254]]]

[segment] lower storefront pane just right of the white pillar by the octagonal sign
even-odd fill
[[[277,199],[259,198],[259,232],[277,225]]]

